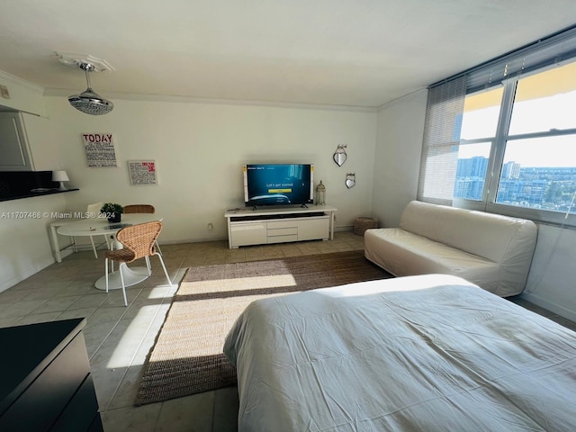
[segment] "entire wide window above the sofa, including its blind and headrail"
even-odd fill
[[[419,200],[576,227],[576,28],[534,45],[430,87],[465,90],[453,120],[428,96]]]

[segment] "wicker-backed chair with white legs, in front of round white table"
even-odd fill
[[[128,265],[132,261],[139,258],[146,258],[146,266],[148,267],[148,275],[151,275],[150,260],[149,257],[156,255],[162,264],[164,269],[164,274],[166,275],[166,280],[168,284],[171,285],[170,276],[166,271],[166,266],[162,256],[156,252],[154,244],[160,230],[162,229],[162,222],[155,220],[153,222],[139,223],[138,225],[131,225],[126,228],[122,228],[116,234],[116,238],[124,246],[122,249],[109,250],[106,252],[104,259],[104,266],[106,272],[106,293],[108,293],[108,260],[117,261],[120,263],[120,280],[122,284],[122,293],[124,295],[124,306],[128,306],[128,300],[126,299],[126,286],[124,285],[124,276],[122,275],[122,266]]]

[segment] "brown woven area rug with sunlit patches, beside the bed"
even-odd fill
[[[388,277],[363,250],[189,268],[148,355],[135,404],[235,385],[222,347],[250,302]]]

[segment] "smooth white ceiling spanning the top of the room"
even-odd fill
[[[94,91],[378,107],[576,23],[574,0],[14,0],[0,70]],[[113,100],[113,99],[112,99]]]

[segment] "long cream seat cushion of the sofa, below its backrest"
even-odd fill
[[[365,257],[396,276],[442,273],[495,293],[500,266],[493,261],[405,231],[368,229]]]

